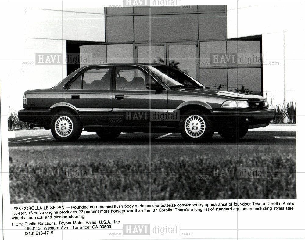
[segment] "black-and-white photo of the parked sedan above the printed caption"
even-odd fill
[[[296,198],[285,25],[235,29],[227,5],[25,10],[11,203]]]

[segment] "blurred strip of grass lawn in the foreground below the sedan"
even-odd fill
[[[12,147],[9,156],[11,203],[296,198],[295,146]],[[238,178],[237,164],[267,177]],[[93,177],[63,178],[67,167]]]

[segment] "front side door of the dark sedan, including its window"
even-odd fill
[[[167,90],[146,89],[146,84],[151,82],[157,83],[138,66],[115,66],[113,119],[122,119],[115,125],[149,127],[152,114],[167,112]]]

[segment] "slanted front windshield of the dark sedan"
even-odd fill
[[[178,69],[164,66],[146,66],[159,77],[169,88],[204,88],[204,85]]]

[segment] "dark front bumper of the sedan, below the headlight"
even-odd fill
[[[274,109],[263,110],[222,110],[217,109],[211,112],[215,128],[238,127],[257,128],[266,127],[274,118]]]

